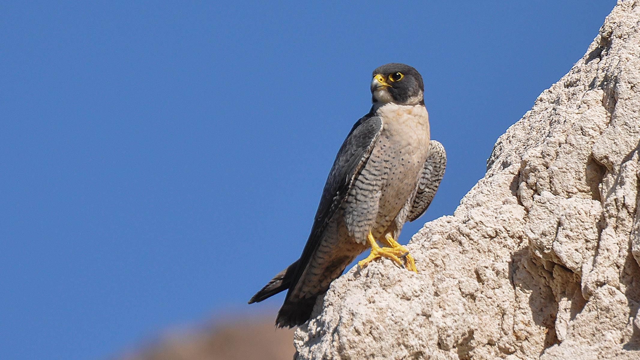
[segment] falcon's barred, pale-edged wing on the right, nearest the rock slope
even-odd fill
[[[422,175],[413,198],[413,207],[407,217],[409,221],[419,218],[427,210],[438,190],[446,166],[447,153],[444,151],[444,146],[438,141],[431,140],[429,143],[429,156],[424,162]]]

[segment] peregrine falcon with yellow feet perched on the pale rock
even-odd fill
[[[385,257],[417,272],[396,239],[404,223],[420,217],[433,200],[447,158],[442,144],[429,141],[424,84],[415,68],[376,68],[371,94],[371,110],[356,121],[335,157],[300,258],[249,301],[288,290],[278,327],[304,324],[317,297],[369,247],[360,267]]]

